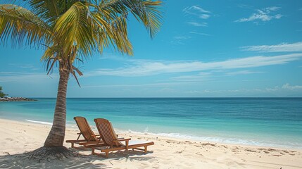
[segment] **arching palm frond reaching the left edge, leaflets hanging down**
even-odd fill
[[[0,40],[13,46],[39,45],[49,42],[51,30],[37,15],[13,4],[0,5]]]

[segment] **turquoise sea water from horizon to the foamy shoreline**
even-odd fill
[[[56,99],[0,102],[0,118],[52,123]],[[74,116],[111,120],[119,132],[302,149],[302,98],[68,99]]]

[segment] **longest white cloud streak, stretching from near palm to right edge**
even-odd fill
[[[201,61],[133,61],[132,65],[127,65],[116,69],[100,69],[87,73],[85,76],[125,76],[137,77],[147,75],[159,75],[163,73],[188,73],[203,70],[230,70],[237,68],[256,68],[266,65],[279,65],[296,61],[302,58],[302,54],[287,54],[279,56],[252,56],[247,58],[237,58],[218,62]]]

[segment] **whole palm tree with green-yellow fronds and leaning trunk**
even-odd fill
[[[132,55],[127,17],[133,15],[152,38],[161,26],[160,6],[160,0],[27,0],[18,1],[18,5],[0,4],[0,42],[44,49],[41,60],[46,62],[48,73],[58,65],[54,122],[39,151],[64,149],[68,79],[72,75],[77,80],[77,75],[82,75],[75,63],[96,52],[102,54],[108,47]]]

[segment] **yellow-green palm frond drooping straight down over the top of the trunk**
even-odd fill
[[[58,18],[54,26],[54,39],[63,49],[64,57],[68,57],[74,45],[77,45],[82,55],[92,56],[97,44],[93,38],[94,25],[91,23],[89,8],[80,1]]]

